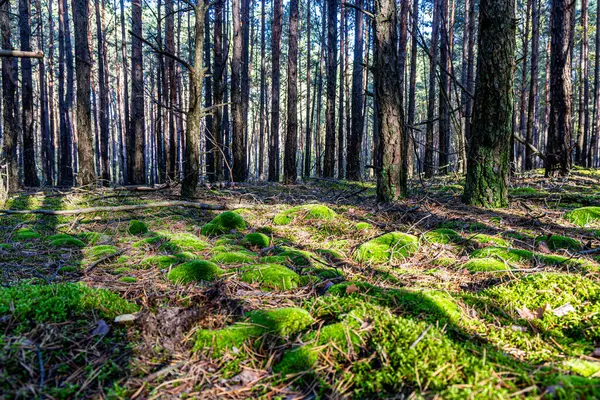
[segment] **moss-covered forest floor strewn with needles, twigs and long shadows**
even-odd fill
[[[600,171],[203,189],[0,216],[0,398],[600,398]],[[176,191],[49,189],[5,209]]]

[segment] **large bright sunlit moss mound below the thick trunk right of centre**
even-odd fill
[[[354,259],[363,263],[381,264],[410,257],[418,249],[419,239],[416,236],[390,232],[360,245],[354,253]]]

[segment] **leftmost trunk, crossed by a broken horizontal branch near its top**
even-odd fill
[[[10,2],[0,4],[0,34],[2,48],[12,50],[12,34],[10,30]],[[19,160],[17,158],[17,141],[19,136],[17,116],[15,115],[17,96],[17,70],[15,59],[2,57],[2,119],[4,140],[2,152],[7,168],[8,191],[20,189]]]

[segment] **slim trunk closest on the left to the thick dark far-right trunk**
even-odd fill
[[[537,96],[538,96],[538,70],[539,70],[539,46],[540,46],[540,22],[539,22],[539,4],[538,0],[531,0],[531,82],[529,83],[529,102],[527,104],[527,132],[525,141],[533,143],[533,138],[537,136]],[[529,146],[525,146],[525,170],[533,169],[533,151]]]

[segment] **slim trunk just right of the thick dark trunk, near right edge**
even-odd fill
[[[587,166],[587,146],[590,130],[590,84],[588,68],[588,0],[581,0],[581,53],[580,53],[580,94],[579,129],[577,133],[577,155],[579,165]],[[596,54],[598,54],[596,50]]]

